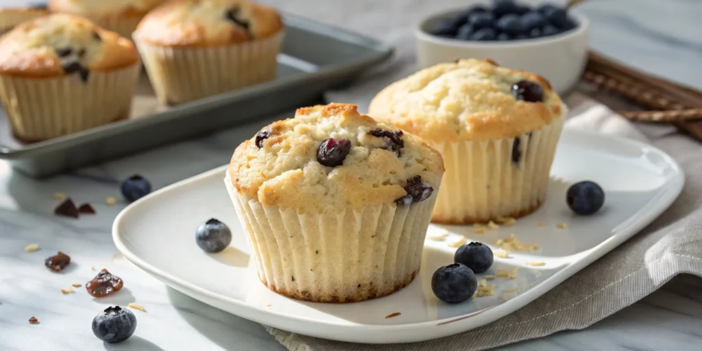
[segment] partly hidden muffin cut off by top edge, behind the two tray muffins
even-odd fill
[[[144,15],[166,0],[49,0],[52,12],[70,13],[131,39]]]

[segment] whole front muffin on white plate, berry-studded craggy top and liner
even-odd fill
[[[239,145],[225,183],[263,284],[347,303],[415,277],[442,173],[441,155],[419,138],[331,104]]]

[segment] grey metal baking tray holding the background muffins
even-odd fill
[[[318,102],[325,90],[392,56],[392,47],[380,41],[289,13],[283,17],[286,37],[274,81],[164,107],[143,74],[130,119],[33,144],[15,140],[1,112],[0,159],[33,178],[51,176]]]

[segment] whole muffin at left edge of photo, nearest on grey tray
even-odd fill
[[[25,142],[128,117],[139,72],[131,41],[73,15],[24,22],[0,38],[0,100]]]

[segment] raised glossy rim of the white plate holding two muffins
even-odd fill
[[[249,319],[260,324],[272,326],[277,329],[283,329],[293,333],[301,333],[318,338],[326,338],[329,340],[372,344],[411,343],[451,336],[457,333],[470,331],[478,328],[479,326],[484,326],[490,322],[494,322],[507,314],[511,314],[512,312],[519,310],[519,308],[531,303],[532,301],[536,300],[536,298],[543,296],[544,293],[555,288],[555,286],[558,284],[564,282],[566,279],[573,276],[584,267],[587,267],[591,263],[595,262],[595,260],[604,256],[604,254],[609,253],[609,251],[615,249],[617,246],[633,237],[635,234],[637,234],[637,232],[658,218],[663,211],[668,209],[670,205],[673,204],[673,201],[677,199],[680,192],[682,192],[682,188],[684,186],[684,172],[682,171],[682,168],[680,168],[680,165],[677,164],[677,161],[675,161],[673,157],[670,157],[668,153],[660,150],[658,147],[617,135],[608,135],[593,131],[581,131],[567,128],[564,130],[563,136],[567,136],[567,134],[594,138],[595,141],[598,138],[600,140],[602,138],[607,138],[616,140],[618,143],[637,147],[639,149],[650,150],[661,156],[665,161],[665,164],[668,164],[674,173],[668,177],[668,181],[665,183],[664,188],[661,189],[661,191],[658,192],[654,198],[639,208],[632,217],[627,218],[621,224],[625,224],[627,221],[630,221],[631,223],[624,225],[616,234],[609,237],[609,239],[602,241],[600,244],[597,244],[597,246],[592,247],[587,251],[577,253],[577,258],[573,261],[573,263],[565,266],[562,270],[555,272],[551,277],[548,277],[541,282],[541,284],[537,284],[533,289],[529,289],[529,291],[522,293],[521,295],[517,296],[517,298],[512,298],[511,300],[501,303],[500,305],[494,305],[484,310],[464,314],[463,316],[408,324],[352,324],[340,326],[333,322],[319,321],[318,319],[310,319],[304,316],[290,316],[279,312],[260,310],[239,300],[235,300],[227,296],[220,296],[218,293],[213,293],[206,289],[200,288],[195,284],[186,282],[178,277],[174,277],[168,272],[161,271],[159,268],[150,265],[150,263],[147,263],[145,260],[142,260],[137,255],[132,253],[121,241],[119,225],[121,220],[128,216],[131,209],[136,208],[135,205],[138,205],[142,201],[145,201],[151,197],[159,196],[159,194],[164,192],[176,190],[178,187],[186,185],[187,183],[192,183],[201,180],[202,178],[211,177],[216,173],[223,173],[227,169],[227,165],[214,168],[210,171],[206,171],[185,180],[180,180],[178,183],[168,185],[167,187],[164,187],[161,190],[158,190],[157,192],[136,201],[130,206],[127,206],[117,215],[117,218],[114,220],[112,225],[112,239],[115,246],[117,246],[117,249],[125,256],[125,258],[127,258],[127,260],[152,275],[152,277],[164,282],[164,284],[167,286],[170,286],[171,288],[176,289],[177,291],[180,291],[181,293],[184,293],[185,295],[195,298],[203,303],[207,303],[208,305],[213,305],[214,307],[225,310],[226,312],[230,312],[239,317]],[[662,204],[662,206],[654,206],[654,203]],[[236,306],[237,308],[227,308],[229,306]],[[237,310],[237,312],[232,312],[232,310]],[[484,314],[485,317],[487,317],[486,322],[465,328],[463,325],[466,323],[461,323],[461,321],[464,321],[465,319],[477,314]],[[310,333],[310,329],[299,328],[298,324],[300,323],[314,324],[320,328],[332,328],[336,331],[338,331],[341,327],[343,328],[343,333],[334,333],[333,337],[330,338],[330,333],[320,333],[319,331]],[[411,337],[408,338],[406,335],[411,335]]]

